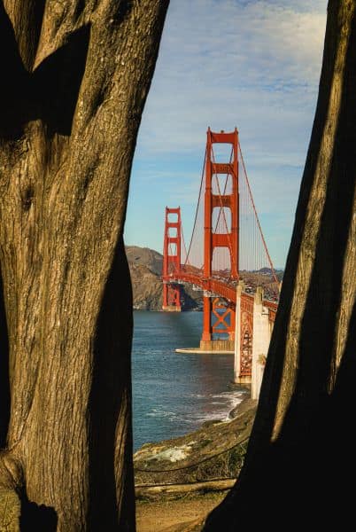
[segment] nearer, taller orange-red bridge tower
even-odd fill
[[[232,147],[229,161],[216,162],[213,155],[213,145],[229,144]],[[213,176],[219,183],[219,175],[225,175],[230,180],[227,191],[214,191]],[[216,187],[215,187],[216,188]],[[218,192],[218,193],[214,193]],[[228,248],[230,258],[229,280],[238,281],[239,273],[239,197],[238,197],[238,132],[214,133],[207,130],[206,160],[205,160],[205,203],[204,203],[204,278],[212,278],[213,253],[218,247]],[[213,227],[213,210],[225,211],[229,209],[230,227],[226,232],[215,232]],[[225,308],[225,309],[224,309]],[[235,338],[236,309],[233,303],[221,301],[213,297],[212,293],[204,293],[204,319],[201,347],[208,347],[214,332],[228,332],[229,340]],[[212,325],[212,312],[216,318]]]

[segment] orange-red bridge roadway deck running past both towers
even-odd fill
[[[221,279],[204,278],[184,271],[170,273],[163,276],[162,279],[163,282],[166,283],[189,283],[190,285],[199,286],[199,288],[206,292],[216,294],[217,296],[223,297],[227,301],[236,304],[236,285],[232,285]],[[253,301],[253,294],[244,292],[244,299],[251,299]],[[263,305],[273,314],[275,314],[278,308],[278,303],[275,301],[263,300]]]

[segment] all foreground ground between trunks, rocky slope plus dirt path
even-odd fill
[[[256,406],[246,396],[227,420],[137,450],[137,532],[201,532],[240,473]]]

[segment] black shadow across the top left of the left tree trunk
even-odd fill
[[[44,6],[37,4],[36,21],[39,24],[42,20],[39,14],[43,14]],[[86,66],[89,36],[89,24],[73,31],[63,46],[31,72],[31,60],[24,58],[29,64],[23,64],[12,23],[1,2],[0,46],[6,51],[2,65],[4,79],[0,87],[0,134],[4,139],[19,139],[26,124],[35,120],[47,124],[50,137],[55,133],[70,136]],[[36,40],[31,45],[35,43]],[[29,53],[27,50],[27,55]]]

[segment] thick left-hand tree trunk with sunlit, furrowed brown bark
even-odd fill
[[[0,529],[16,494],[24,530],[135,529],[122,231],[168,2],[0,2]]]

